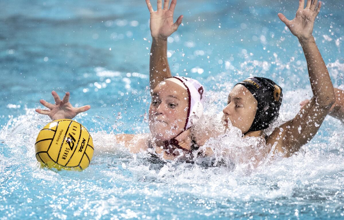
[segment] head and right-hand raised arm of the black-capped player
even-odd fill
[[[278,115],[282,101],[282,89],[272,80],[250,77],[234,86],[223,109],[223,121],[231,121],[245,136],[263,136],[268,146],[275,145],[274,153],[290,156],[308,143],[318,132],[325,116],[335,102],[329,72],[312,35],[314,20],[320,12],[321,2],[299,1],[296,17],[289,21],[283,14],[278,17],[291,33],[298,37],[306,57],[313,97],[290,121],[282,124],[272,134],[265,136]]]

